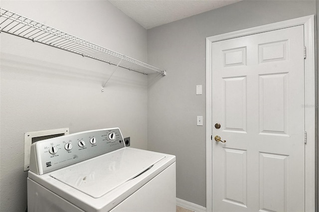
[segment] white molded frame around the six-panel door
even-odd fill
[[[305,211],[316,208],[316,58],[315,16],[305,16],[287,21],[257,26],[206,38],[206,209],[212,211],[212,42],[304,25],[305,46]]]

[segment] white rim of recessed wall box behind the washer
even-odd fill
[[[24,171],[29,170],[31,144],[40,140],[69,134],[69,128],[24,133]]]

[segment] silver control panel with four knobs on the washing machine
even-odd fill
[[[30,171],[42,175],[125,147],[120,128],[73,133],[31,145]]]

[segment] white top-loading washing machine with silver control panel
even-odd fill
[[[31,145],[28,212],[175,212],[175,156],[126,147],[121,130]]]

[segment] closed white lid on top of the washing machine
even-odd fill
[[[122,148],[50,174],[93,198],[100,198],[165,158],[154,152]]]

